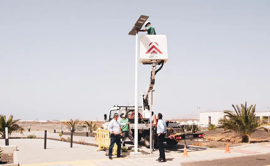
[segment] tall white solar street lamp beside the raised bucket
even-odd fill
[[[141,29],[149,16],[141,15],[140,18],[133,25],[128,35],[136,36],[135,46],[135,113],[134,113],[134,152],[138,153],[138,32],[136,29]]]

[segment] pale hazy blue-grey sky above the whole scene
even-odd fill
[[[140,15],[166,35],[155,114],[198,116],[231,104],[270,107],[270,1],[0,1],[0,113],[14,119],[103,119],[134,105]],[[139,35],[147,32],[139,32]],[[140,94],[151,65],[139,64]]]

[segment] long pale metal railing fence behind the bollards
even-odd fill
[[[30,125],[30,130],[70,130],[70,127],[67,126],[66,124],[34,124],[34,123],[16,123],[20,127],[22,127],[24,130],[28,130],[29,125]],[[82,127],[82,124],[77,124],[75,127],[75,130],[77,131],[86,131],[85,127]],[[74,130],[74,129],[73,129]]]

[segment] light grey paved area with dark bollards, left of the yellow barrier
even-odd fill
[[[1,145],[5,145],[4,139],[0,139]],[[47,140],[46,149],[43,139],[9,139],[9,145],[17,145],[20,165],[108,158],[105,151],[95,152],[97,147],[73,144],[70,148],[69,142],[54,140]]]

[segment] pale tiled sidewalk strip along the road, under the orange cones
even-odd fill
[[[187,147],[189,148],[189,147]],[[234,158],[234,157],[241,157],[241,156],[249,156],[249,155],[256,155],[256,154],[264,154],[270,153],[270,145],[258,145],[255,147],[247,147],[242,149],[234,149],[230,150],[231,153],[224,153],[224,150],[218,149],[206,149],[204,151],[193,151],[188,152],[190,157],[182,157],[183,153],[173,153],[171,156],[167,156],[167,162],[165,163],[158,163],[155,161],[157,157],[151,158],[113,158],[113,160],[109,160],[108,158],[105,159],[95,159],[95,160],[81,160],[81,161],[70,161],[70,162],[58,162],[58,163],[40,163],[40,164],[27,164],[24,166],[44,166],[44,165],[51,165],[51,166],[106,166],[106,165],[114,165],[114,164],[121,164],[121,165],[135,165],[141,166],[143,164],[147,165],[170,165],[176,166],[181,165],[181,163],[185,162],[194,162],[194,161],[206,161],[206,160],[215,160],[215,159],[224,159],[224,158]],[[98,152],[91,152],[91,154],[95,155]],[[21,165],[21,164],[20,164]]]

